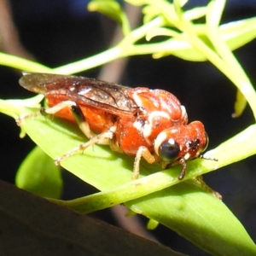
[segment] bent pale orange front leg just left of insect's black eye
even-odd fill
[[[147,160],[149,164],[153,164],[155,162],[154,155],[150,153],[148,148],[141,146],[137,149],[137,154],[134,160],[134,166],[133,166],[133,173],[131,176],[132,180],[135,180],[138,178],[140,174],[140,161],[142,157]]]

